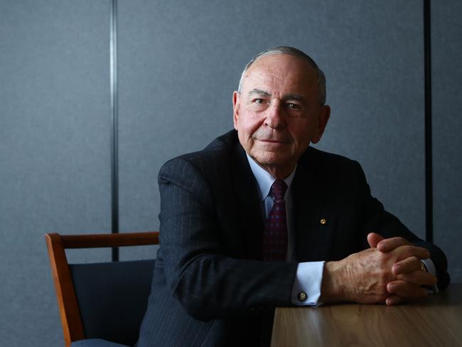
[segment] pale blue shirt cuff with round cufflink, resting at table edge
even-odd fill
[[[318,306],[321,304],[321,282],[325,262],[300,262],[292,286],[292,304]]]

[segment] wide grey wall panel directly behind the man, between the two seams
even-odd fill
[[[278,45],[327,75],[318,147],[358,159],[375,196],[424,237],[422,2],[397,0],[119,1],[122,230],[159,228],[161,164],[232,128],[242,68]]]

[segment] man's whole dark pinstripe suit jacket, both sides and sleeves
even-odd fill
[[[340,260],[367,248],[370,231],[401,235],[431,250],[447,286],[443,252],[385,212],[357,162],[308,148],[292,184],[297,261]],[[260,261],[262,206],[237,132],[168,161],[159,188],[161,246],[138,346],[259,346],[262,317],[291,306],[296,263]]]

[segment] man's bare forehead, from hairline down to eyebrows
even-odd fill
[[[242,90],[255,87],[308,94],[318,90],[318,72],[306,60],[293,55],[267,55],[253,63],[242,80]]]

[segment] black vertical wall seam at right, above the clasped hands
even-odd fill
[[[430,0],[424,0],[425,60],[425,237],[433,242],[433,160],[431,139],[431,27]]]

